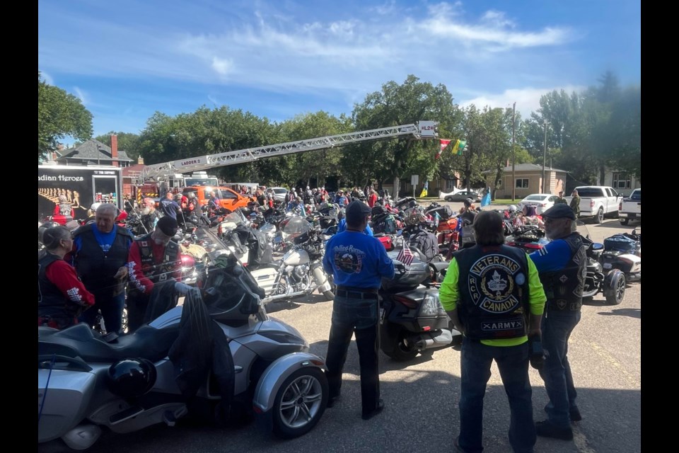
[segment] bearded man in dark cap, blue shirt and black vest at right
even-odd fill
[[[542,346],[549,352],[540,376],[550,402],[545,406],[547,420],[535,424],[539,436],[573,439],[571,421],[582,420],[575,398],[568,339],[580,322],[582,291],[587,273],[586,246],[576,232],[576,213],[559,204],[542,213],[547,246],[530,253],[547,294],[542,319]]]

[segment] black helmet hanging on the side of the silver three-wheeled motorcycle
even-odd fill
[[[120,360],[110,366],[107,377],[113,394],[123,398],[141,396],[156,384],[156,367],[142,358]]]

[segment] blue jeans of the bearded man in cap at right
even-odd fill
[[[550,423],[559,428],[571,426],[570,409],[576,407],[577,392],[567,354],[568,339],[579,322],[579,311],[553,310],[542,317],[542,348],[550,353],[540,369],[540,377],[545,381],[550,397],[545,411]]]

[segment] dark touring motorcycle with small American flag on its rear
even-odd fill
[[[387,252],[397,272],[380,288],[380,348],[393,360],[412,360],[419,353],[460,344],[462,333],[439,302],[439,285],[431,282],[429,266],[417,255],[410,265]]]

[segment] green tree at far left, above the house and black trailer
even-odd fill
[[[37,156],[57,149],[59,139],[92,137],[92,114],[79,98],[48,85],[37,72]]]

